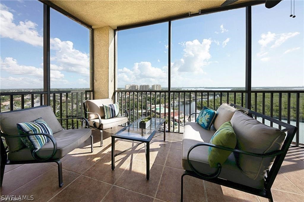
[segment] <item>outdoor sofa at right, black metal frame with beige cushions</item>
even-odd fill
[[[261,117],[278,124],[282,130],[255,120]],[[189,116],[190,118],[190,116]],[[210,144],[216,130],[230,121],[237,138],[237,149]],[[181,162],[185,173],[212,183],[241,190],[273,201],[271,186],[278,174],[297,127],[235,104],[222,104],[210,130],[196,122],[185,123]],[[208,162],[209,147],[232,151],[228,159],[217,167]]]

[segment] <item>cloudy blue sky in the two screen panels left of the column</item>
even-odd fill
[[[89,88],[89,30],[50,11],[51,88]],[[1,1],[1,88],[43,88],[43,4]]]

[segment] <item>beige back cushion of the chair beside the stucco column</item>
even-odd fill
[[[103,105],[113,104],[112,99],[91,99],[85,101],[88,112],[98,113],[101,118],[105,117],[105,110],[103,109]],[[89,120],[98,119],[98,116],[95,114],[89,114]]]

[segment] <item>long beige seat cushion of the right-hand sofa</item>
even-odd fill
[[[209,143],[211,137],[216,132],[212,127],[211,130],[205,130],[198,123],[188,122],[185,124],[181,164],[185,170],[192,170],[187,161],[188,150],[191,146],[206,142]],[[193,149],[189,155],[192,165],[201,173],[212,174],[216,172],[216,168],[211,168],[208,163],[208,146],[199,146]],[[232,182],[241,183],[246,186],[262,189],[264,180],[252,180],[247,177],[240,168],[237,167],[235,158],[231,154],[222,165],[220,178],[230,180]]]

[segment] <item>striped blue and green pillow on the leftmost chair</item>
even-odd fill
[[[53,136],[52,130],[42,118],[33,122],[17,123],[17,128],[19,135],[47,133]],[[50,138],[44,135],[20,137],[20,139],[33,152],[40,150],[43,145],[50,141]]]

